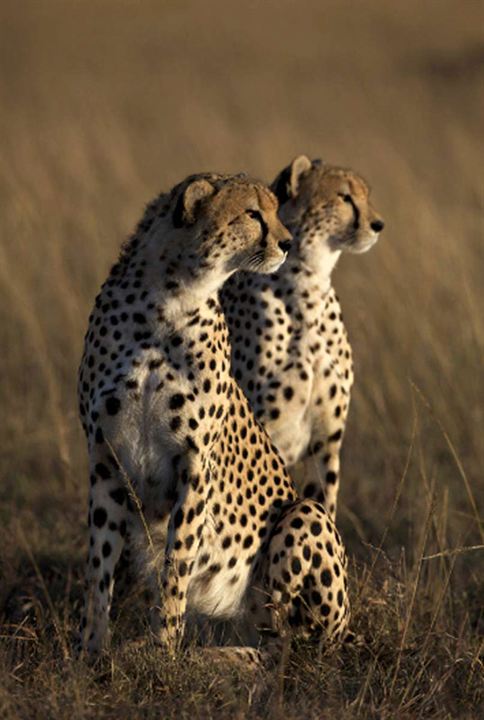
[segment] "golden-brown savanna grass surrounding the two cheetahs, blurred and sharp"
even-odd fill
[[[483,21],[461,0],[2,3],[1,717],[482,717]],[[160,189],[270,179],[301,152],[365,174],[387,224],[335,277],[357,372],[338,523],[366,644],[230,675],[137,645],[127,607],[86,669],[94,293]]]

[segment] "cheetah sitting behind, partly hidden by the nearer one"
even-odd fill
[[[361,177],[304,155],[272,189],[294,242],[277,273],[238,273],[223,288],[234,377],[299,493],[334,518],[353,365],[331,272],[342,252],[369,250],[383,220]]]

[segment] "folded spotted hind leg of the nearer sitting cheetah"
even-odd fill
[[[324,507],[299,500],[279,519],[249,600],[259,631],[345,641],[350,617],[347,560]]]

